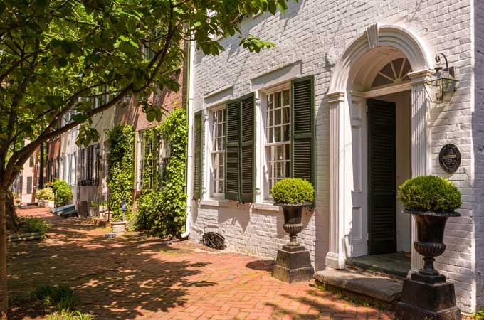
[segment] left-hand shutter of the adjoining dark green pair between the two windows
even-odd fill
[[[241,100],[226,102],[225,198],[240,200]]]

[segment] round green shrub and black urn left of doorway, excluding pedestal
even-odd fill
[[[312,184],[301,178],[285,178],[275,183],[270,191],[275,206],[283,207],[283,228],[290,235],[288,245],[297,246],[297,235],[304,229],[301,223],[302,208],[312,205],[314,200]]]

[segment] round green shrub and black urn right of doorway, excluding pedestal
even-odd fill
[[[419,176],[405,181],[399,187],[398,194],[405,207],[404,213],[413,215],[416,221],[417,241],[414,247],[416,252],[423,255],[425,262],[419,274],[434,279],[443,278],[433,268],[433,262],[446,250],[443,231],[447,219],[461,216],[455,212],[462,204],[461,192],[446,178]]]

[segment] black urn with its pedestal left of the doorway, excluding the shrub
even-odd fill
[[[314,269],[311,265],[309,251],[304,245],[298,242],[297,236],[304,229],[302,224],[302,208],[310,206],[311,203],[275,203],[275,206],[282,206],[284,213],[283,229],[289,233],[290,241],[278,250],[278,257],[275,261],[273,277],[283,282],[307,281],[314,276]]]

